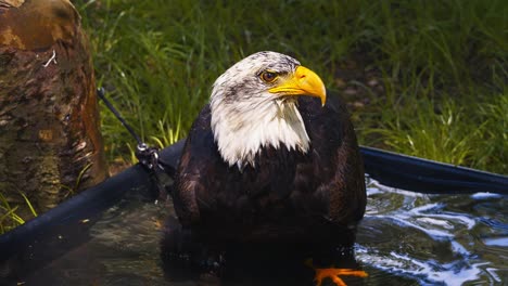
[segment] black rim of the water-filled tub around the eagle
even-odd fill
[[[176,166],[182,146],[180,141],[163,150],[161,160]],[[386,186],[437,194],[508,194],[506,176],[370,147],[361,147],[361,153],[366,173]],[[139,193],[148,199],[155,188],[151,176],[142,166],[132,166],[1,235],[0,284],[16,281],[89,239],[88,231],[94,221],[105,209],[125,199],[126,193]]]

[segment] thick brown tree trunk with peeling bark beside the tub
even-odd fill
[[[67,0],[0,0],[0,192],[47,210],[106,177],[77,11]]]

